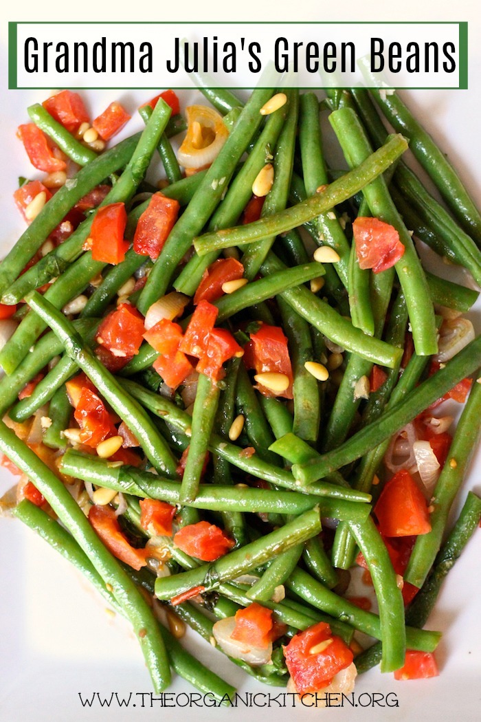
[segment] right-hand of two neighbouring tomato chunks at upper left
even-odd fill
[[[149,205],[138,219],[133,250],[140,256],[159,257],[169,233],[177,221],[180,204],[162,193],[154,193]]]

